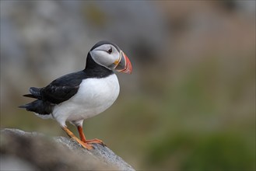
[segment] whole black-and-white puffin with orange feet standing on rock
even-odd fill
[[[90,49],[82,71],[61,76],[42,88],[30,87],[30,93],[23,96],[35,100],[19,107],[43,119],[56,120],[83,148],[92,149],[93,143],[105,145],[97,138],[86,139],[82,123],[107,110],[117,99],[120,87],[114,71],[131,74],[131,61],[116,44],[100,41]],[[77,127],[79,138],[66,122]]]

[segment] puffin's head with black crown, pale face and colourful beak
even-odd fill
[[[132,73],[130,60],[116,44],[100,41],[92,47],[89,54],[98,65],[117,72]]]

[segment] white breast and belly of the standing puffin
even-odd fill
[[[103,79],[85,79],[79,91],[67,101],[54,106],[53,117],[61,126],[65,121],[79,121],[107,110],[119,94],[117,75]]]

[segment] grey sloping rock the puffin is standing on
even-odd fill
[[[1,170],[135,170],[109,148],[86,150],[65,137],[1,130]]]

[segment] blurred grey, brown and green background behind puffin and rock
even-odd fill
[[[87,138],[135,169],[255,169],[255,1],[1,1],[0,28],[1,128],[66,136],[22,95],[110,40],[133,73]]]

